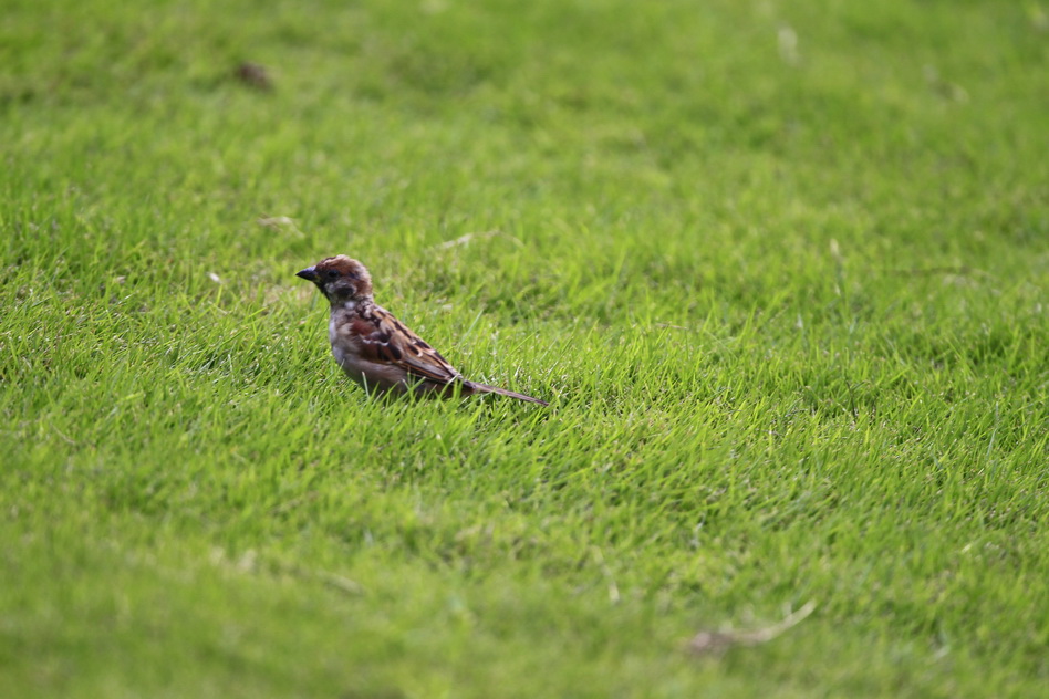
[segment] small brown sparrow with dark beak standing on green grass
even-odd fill
[[[372,275],[344,254],[295,273],[316,284],[331,304],[328,338],[342,371],[365,390],[451,397],[494,393],[527,403],[546,400],[467,380],[447,359],[372,298]]]

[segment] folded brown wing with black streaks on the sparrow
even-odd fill
[[[393,364],[412,376],[439,384],[461,378],[447,359],[383,307],[372,306],[366,322],[355,330],[361,355],[366,359]]]

